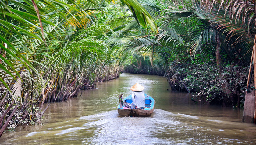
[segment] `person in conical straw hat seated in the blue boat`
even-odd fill
[[[133,103],[124,103],[124,106],[131,109],[145,109],[145,95],[142,91],[144,87],[136,83],[130,89],[133,91],[131,97]]]

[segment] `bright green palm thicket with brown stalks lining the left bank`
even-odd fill
[[[80,89],[118,77],[130,62],[130,54],[121,52],[125,34],[133,31],[125,27],[134,18],[123,3],[8,0],[0,5],[0,135],[6,127],[38,123],[45,102],[76,97]]]

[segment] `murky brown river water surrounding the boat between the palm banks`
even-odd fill
[[[136,82],[155,99],[154,112],[120,117],[118,95],[130,95]],[[51,103],[40,125],[6,132],[0,144],[256,144],[256,125],[241,123],[243,109],[195,104],[189,93],[168,91],[164,77],[123,73],[96,88]]]

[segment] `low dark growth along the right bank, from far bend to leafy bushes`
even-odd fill
[[[172,91],[193,93],[191,99],[197,103],[244,106],[249,68],[233,63],[223,64],[219,69],[214,60],[205,61],[201,57],[190,59],[178,65],[179,69],[171,64],[169,67],[151,66],[149,60],[144,60],[141,65],[134,63],[126,66],[124,72],[165,76]],[[251,88],[248,90],[252,91]]]

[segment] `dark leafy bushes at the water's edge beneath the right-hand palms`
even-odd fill
[[[196,93],[193,100],[197,102],[235,106],[238,103],[237,97],[245,96],[247,72],[247,68],[234,64],[225,64],[222,71],[219,71],[213,59],[196,57],[191,60],[190,65],[179,70],[182,78],[179,87],[185,90],[182,83],[187,84],[187,89]],[[236,96],[236,91],[239,96]]]

